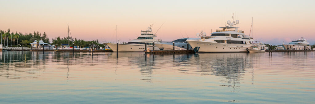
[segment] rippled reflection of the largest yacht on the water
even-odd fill
[[[198,53],[194,58],[198,60],[197,69],[200,74],[221,77],[221,82],[227,83],[221,83],[220,86],[232,87],[234,92],[239,87],[242,76],[254,71],[248,55],[249,53]]]

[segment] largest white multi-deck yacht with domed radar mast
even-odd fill
[[[239,21],[227,21],[228,26],[220,27],[211,33],[210,37],[202,37],[200,40],[187,40],[195,52],[248,52],[252,49],[254,41],[252,37],[245,36],[244,31],[233,27]],[[199,33],[197,33],[197,36]]]

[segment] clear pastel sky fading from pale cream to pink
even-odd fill
[[[201,30],[209,36],[234,13],[240,21],[236,26],[246,35],[253,17],[251,36],[257,41],[278,45],[304,37],[315,42],[312,0],[1,0],[0,4],[0,29],[46,32],[50,40],[67,37],[67,24],[72,37],[87,41],[116,41],[116,25],[117,39],[123,42],[136,39],[150,24],[162,41],[196,37]]]

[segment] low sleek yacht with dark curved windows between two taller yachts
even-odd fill
[[[155,45],[160,50],[173,50],[173,42],[174,42],[174,49],[175,50],[186,50],[187,49],[187,40],[199,40],[200,38],[182,38],[177,39],[172,42],[162,42],[162,43],[156,43]],[[188,49],[191,50],[192,47],[188,45]]]

